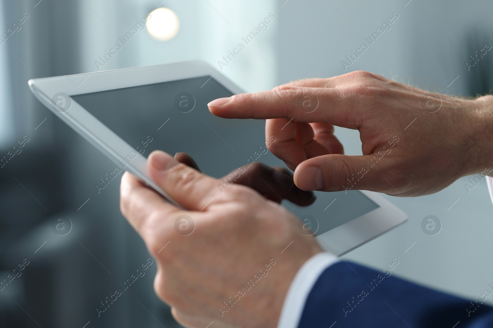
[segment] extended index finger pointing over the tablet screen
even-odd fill
[[[293,119],[358,127],[357,97],[339,88],[282,86],[211,101],[212,114],[225,119]]]

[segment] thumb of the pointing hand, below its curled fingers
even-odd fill
[[[330,154],[310,158],[294,171],[294,182],[302,190],[383,191],[382,173],[386,170],[382,157],[376,154],[348,156]],[[385,182],[385,181],[384,181]]]

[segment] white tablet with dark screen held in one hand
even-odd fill
[[[29,81],[36,98],[116,165],[168,197],[148,176],[155,149],[189,153],[202,171],[220,178],[252,161],[282,166],[265,147],[265,121],[221,119],[207,103],[243,91],[201,61],[134,67]],[[104,181],[95,188],[104,188]],[[282,204],[299,229],[341,255],[406,220],[385,198],[368,191],[316,192],[317,201]]]

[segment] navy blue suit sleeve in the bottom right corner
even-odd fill
[[[325,269],[307,298],[298,328],[493,327],[493,308],[483,302],[493,288],[466,300],[385,272],[351,262]]]

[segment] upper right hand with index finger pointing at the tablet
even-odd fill
[[[419,196],[493,170],[493,96],[454,98],[355,71],[216,99],[209,109],[267,119],[266,135],[277,139],[269,150],[303,190]],[[363,155],[344,155],[333,125],[359,130]]]

